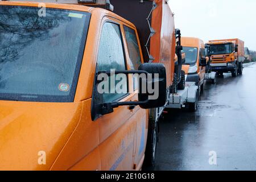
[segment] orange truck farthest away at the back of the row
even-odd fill
[[[244,42],[240,39],[210,40],[210,67],[219,76],[231,72],[233,77],[242,75],[245,60]]]

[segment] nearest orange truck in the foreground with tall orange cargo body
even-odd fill
[[[0,169],[154,164],[158,119],[174,81],[168,3],[44,2],[0,1]],[[126,92],[115,92],[121,80]],[[141,92],[150,82],[160,89]]]

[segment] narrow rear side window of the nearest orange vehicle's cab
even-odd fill
[[[141,55],[139,52],[137,36],[135,30],[126,26],[123,26],[123,28],[125,29],[125,37],[129,49],[131,69],[137,70],[139,65],[141,65]]]

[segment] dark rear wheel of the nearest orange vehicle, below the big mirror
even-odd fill
[[[156,148],[158,146],[159,125],[156,121],[156,109],[150,110],[150,119],[148,121],[147,146],[145,151],[145,163],[148,167],[155,166]]]

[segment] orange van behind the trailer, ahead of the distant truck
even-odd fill
[[[181,37],[181,45],[185,53],[185,71],[187,82],[196,82],[199,86],[199,93],[204,89],[205,67],[207,57],[205,56],[205,45],[199,38]]]

